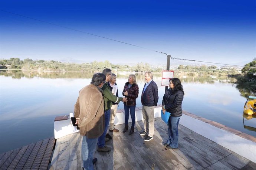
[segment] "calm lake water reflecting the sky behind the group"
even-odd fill
[[[129,74],[117,74],[118,91],[121,94]],[[145,84],[144,74],[136,74],[139,92]],[[174,72],[175,76],[175,72]],[[0,153],[54,136],[53,122],[56,116],[68,115],[83,86],[91,82],[92,73],[22,72],[0,71]],[[243,118],[246,98],[233,84],[236,79],[210,76],[181,79],[185,96],[182,108],[203,118],[256,136],[245,129],[244,124],[256,128],[256,118]],[[162,103],[165,87],[161,86],[161,74],[154,74]],[[141,106],[141,96],[137,106]],[[123,109],[122,102],[119,109]]]

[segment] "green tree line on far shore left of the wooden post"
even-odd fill
[[[118,71],[135,71],[135,72],[161,72],[161,68],[151,68],[148,63],[137,63],[135,66],[130,65],[118,65],[112,64],[109,61],[93,61],[90,63],[62,63],[59,61],[45,61],[45,60],[32,60],[26,58],[20,60],[20,58],[0,59],[0,69],[23,69],[33,71],[82,71],[82,72],[94,72],[103,70],[104,68],[117,69]]]

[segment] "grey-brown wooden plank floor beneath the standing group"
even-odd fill
[[[129,123],[129,127],[131,123]],[[163,143],[167,140],[167,125],[155,118],[154,139],[145,142],[139,132],[142,121],[135,122],[135,132],[123,133],[124,125],[116,125],[113,139],[106,142],[112,150],[108,153],[95,152],[98,158],[94,169],[102,170],[164,170],[164,169],[250,169],[256,164],[232,151],[179,125],[179,147],[169,150]],[[163,142],[164,141],[164,142]],[[53,154],[54,170],[81,170],[81,142],[79,133],[57,140]],[[114,148],[114,149],[113,149]]]

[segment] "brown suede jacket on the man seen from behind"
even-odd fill
[[[105,127],[104,99],[102,90],[90,84],[79,91],[75,104],[75,118],[80,118],[80,135],[96,138],[102,135]]]

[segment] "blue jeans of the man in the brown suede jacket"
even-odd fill
[[[87,136],[83,136],[81,156],[85,170],[93,170],[92,159],[96,150],[97,140],[98,138],[88,139]]]

